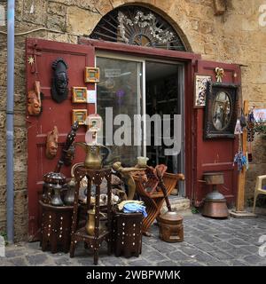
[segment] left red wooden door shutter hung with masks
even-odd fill
[[[66,135],[71,129],[72,109],[88,109],[88,114],[94,112],[94,105],[73,104],[71,87],[86,86],[84,83],[84,67],[94,67],[94,48],[69,43],[56,43],[39,39],[27,39],[27,58],[35,53],[35,65],[27,62],[27,91],[34,88],[35,80],[40,81],[43,92],[43,112],[40,116],[27,115],[27,189],[28,189],[28,237],[34,241],[38,236],[39,215],[38,198],[42,193],[43,175],[55,169],[61,154],[61,148],[66,141]],[[52,62],[62,57],[67,65],[69,77],[68,97],[58,104],[51,99]],[[32,72],[32,71],[37,71]],[[87,89],[93,90],[94,84],[87,84]],[[59,130],[59,149],[57,156],[49,160],[45,157],[47,132],[56,125]],[[86,127],[81,126],[77,132],[76,141],[84,141]],[[84,153],[76,148],[74,162],[81,162]],[[61,172],[70,177],[71,167],[62,167]]]

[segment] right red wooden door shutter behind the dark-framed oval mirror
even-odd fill
[[[223,83],[240,84],[239,65],[199,60],[196,71],[201,75],[211,75],[213,82],[215,82],[215,67],[223,67]],[[237,76],[234,74],[237,74]],[[199,180],[202,179],[202,174],[209,171],[223,171],[224,185],[218,185],[218,189],[224,194],[227,202],[233,204],[236,201],[238,186],[238,173],[236,167],[233,166],[233,158],[238,150],[238,139],[214,138],[204,140],[204,112],[204,108],[195,109],[196,154],[194,169],[196,175],[194,177],[193,202],[196,206],[199,206],[206,194],[212,190],[210,186],[200,183]]]

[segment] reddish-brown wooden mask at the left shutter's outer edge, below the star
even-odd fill
[[[42,111],[41,85],[35,81],[35,90],[27,92],[27,112],[29,115],[39,115]]]

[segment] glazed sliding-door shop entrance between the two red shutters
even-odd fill
[[[96,65],[102,78],[97,85],[102,143],[113,157],[132,167],[143,155],[150,166],[165,164],[168,172],[184,173],[184,65],[106,52],[98,53]],[[184,196],[184,186],[179,194]]]

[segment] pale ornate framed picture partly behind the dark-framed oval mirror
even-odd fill
[[[210,75],[195,75],[194,107],[204,107],[206,101],[207,82],[212,81]]]

